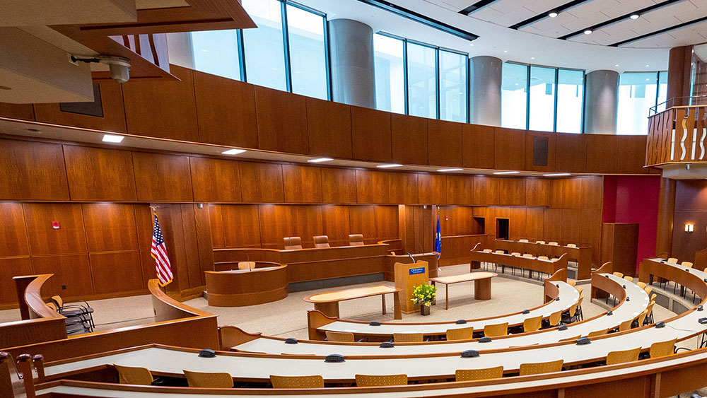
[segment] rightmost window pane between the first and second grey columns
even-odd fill
[[[440,119],[467,121],[467,59],[440,50]]]

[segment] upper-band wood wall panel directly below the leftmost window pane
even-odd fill
[[[193,71],[199,141],[258,148],[255,86]]]

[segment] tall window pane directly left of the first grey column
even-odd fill
[[[327,100],[324,17],[287,5],[292,92]]]

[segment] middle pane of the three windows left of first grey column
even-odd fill
[[[280,2],[243,0],[243,8],[258,25],[243,30],[247,82],[287,90]]]

